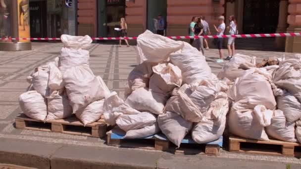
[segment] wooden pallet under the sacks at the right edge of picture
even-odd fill
[[[301,157],[301,144],[273,139],[270,139],[270,141],[259,141],[237,136],[229,136],[229,151]]]

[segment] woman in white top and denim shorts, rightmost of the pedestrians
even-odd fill
[[[234,15],[231,15],[229,17],[229,25],[227,26],[227,29],[229,30],[229,34],[230,35],[237,35],[237,21]],[[228,57],[225,60],[230,60],[232,58],[232,56],[234,56],[235,54],[235,38],[229,38],[228,39],[228,43],[227,43],[227,47],[228,47]]]

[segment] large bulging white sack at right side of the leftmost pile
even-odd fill
[[[100,77],[95,77],[88,66],[70,68],[63,76],[63,83],[73,108],[73,113],[88,104],[103,99],[110,91]]]

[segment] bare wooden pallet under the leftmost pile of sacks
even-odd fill
[[[84,125],[76,118],[70,117],[62,120],[54,121],[38,121],[31,119],[24,114],[15,118],[16,128],[29,129],[38,131],[61,132],[65,134],[83,135],[90,137],[104,137],[107,131],[107,124],[103,119],[98,122]]]

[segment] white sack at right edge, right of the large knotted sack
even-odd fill
[[[288,122],[296,122],[301,118],[301,103],[289,92],[276,96],[277,107],[283,111]]]

